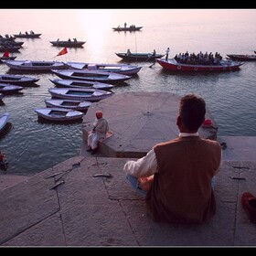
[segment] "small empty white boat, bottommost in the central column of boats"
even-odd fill
[[[64,108],[36,108],[38,117],[44,118],[49,121],[75,121],[83,117],[83,112],[78,112]]]

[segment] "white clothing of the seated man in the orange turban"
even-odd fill
[[[100,119],[95,119],[93,123],[94,131],[88,135],[88,146],[92,149],[95,149],[98,147],[98,143],[101,139],[104,139],[106,136],[106,133],[109,132],[109,124],[108,122],[101,117]]]

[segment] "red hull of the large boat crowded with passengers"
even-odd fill
[[[208,72],[221,72],[221,71],[233,71],[240,69],[243,62],[232,61],[232,60],[220,60],[219,65],[192,65],[192,64],[182,64],[178,63],[176,59],[156,59],[156,61],[164,68],[168,70],[175,71],[208,71]]]

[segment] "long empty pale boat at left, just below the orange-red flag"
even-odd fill
[[[9,69],[28,71],[51,71],[51,69],[66,69],[66,65],[60,61],[48,60],[5,60]]]

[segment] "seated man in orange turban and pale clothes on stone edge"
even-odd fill
[[[106,134],[109,132],[109,123],[105,118],[103,118],[103,113],[101,111],[95,112],[96,118],[93,123],[93,128],[91,133],[88,135],[88,150],[91,152],[91,155],[94,155],[97,152],[99,141],[106,137]]]

